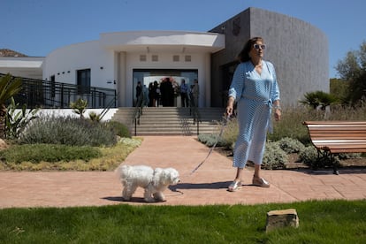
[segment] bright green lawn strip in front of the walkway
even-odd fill
[[[265,233],[266,213],[300,226]],[[0,210],[1,243],[364,243],[366,201]]]

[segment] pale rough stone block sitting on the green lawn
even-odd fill
[[[296,210],[272,210],[267,213],[266,232],[286,226],[299,227],[299,217]]]

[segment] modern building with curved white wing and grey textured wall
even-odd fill
[[[75,43],[36,58],[32,60],[39,62],[35,66],[1,57],[0,72],[42,71],[43,80],[114,88],[118,107],[133,106],[138,81],[149,87],[150,82],[167,77],[175,85],[182,79],[192,85],[197,79],[199,106],[221,107],[238,64],[236,56],[254,36],[262,36],[268,46],[265,59],[276,67],[282,104],[294,105],[310,91],[329,92],[325,34],[301,19],[257,8],[242,11],[209,32],[103,33],[99,40]]]

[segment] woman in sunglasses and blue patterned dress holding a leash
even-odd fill
[[[228,187],[233,192],[241,187],[241,173],[250,160],[255,164],[252,183],[258,187],[270,187],[270,183],[261,177],[267,131],[271,131],[271,111],[279,120],[279,89],[274,66],[263,60],[265,45],[262,37],[254,37],[244,45],[238,59],[229,98],[226,115],[233,114],[233,104],[237,104],[239,135],[235,143],[233,167],[237,168],[235,179]]]

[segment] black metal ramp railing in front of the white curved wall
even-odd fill
[[[0,73],[0,77],[5,74]],[[17,103],[27,104],[27,108],[70,108],[70,103],[79,98],[88,101],[88,108],[117,107],[115,89],[83,87],[50,80],[35,80],[14,77],[22,80],[22,90],[14,96]]]

